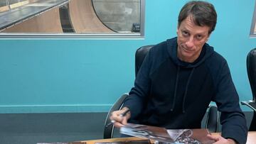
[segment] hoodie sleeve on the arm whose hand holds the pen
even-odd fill
[[[151,48],[152,50],[152,48]],[[134,87],[129,92],[129,96],[124,101],[124,105],[130,109],[131,119],[137,118],[144,109],[146,103],[146,97],[149,96],[149,87],[151,81],[149,79],[149,72],[151,67],[151,50],[144,58],[142,66],[137,73],[137,77],[134,82]]]

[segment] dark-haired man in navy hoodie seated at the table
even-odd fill
[[[177,38],[155,45],[145,57],[114,126],[141,123],[165,128],[200,128],[210,101],[221,111],[222,136],[215,143],[246,143],[247,126],[226,60],[206,41],[217,14],[205,1],[190,1],[178,16]],[[121,113],[130,110],[125,116]]]

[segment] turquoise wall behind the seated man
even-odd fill
[[[108,111],[133,85],[135,50],[176,36],[185,2],[147,0],[144,40],[0,40],[0,113]],[[228,60],[240,101],[252,99],[245,60],[256,47],[255,1],[210,2],[218,23],[209,43]]]

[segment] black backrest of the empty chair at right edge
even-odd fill
[[[247,55],[247,74],[250,82],[250,87],[252,89],[252,99],[255,100],[256,97],[256,48],[250,50]]]

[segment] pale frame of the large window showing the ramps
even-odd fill
[[[144,39],[145,0],[140,0],[139,33],[0,33],[0,39]]]

